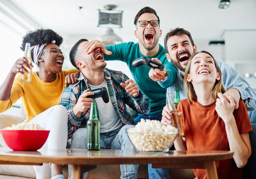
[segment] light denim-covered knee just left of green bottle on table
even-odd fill
[[[79,128],[74,132],[71,148],[87,148],[87,128]]]

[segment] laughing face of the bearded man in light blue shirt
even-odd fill
[[[185,71],[191,55],[196,51],[193,47],[188,35],[170,36],[167,40],[168,54],[166,57],[182,72]]]

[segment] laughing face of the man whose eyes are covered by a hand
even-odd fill
[[[104,69],[107,63],[104,61],[104,55],[100,48],[95,48],[91,54],[86,54],[85,46],[88,43],[88,41],[83,41],[77,47],[76,64],[78,68]]]

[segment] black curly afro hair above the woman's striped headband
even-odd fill
[[[25,44],[30,43],[31,47],[37,44],[52,43],[55,40],[55,44],[60,46],[63,38],[52,31],[51,29],[37,29],[36,31],[30,31],[23,37],[21,50],[25,50]]]

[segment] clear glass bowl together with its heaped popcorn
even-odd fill
[[[172,125],[163,125],[158,120],[141,119],[141,122],[126,132],[136,150],[168,152],[178,130]]]

